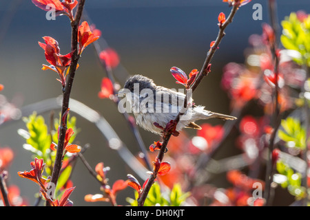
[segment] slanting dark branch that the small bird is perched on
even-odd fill
[[[231,9],[229,17],[227,18],[225,23],[223,23],[223,25],[219,26],[220,30],[218,32],[218,36],[216,38],[216,41],[215,41],[213,47],[211,47],[211,50],[207,53],[207,57],[205,58],[205,62],[203,63],[203,67],[200,70],[196,80],[194,81],[192,86],[189,88],[189,89],[192,89],[192,92],[194,92],[194,90],[200,84],[201,80],[203,80],[203,78],[205,76],[207,76],[207,74],[209,73],[209,70],[210,70],[209,65],[210,65],[211,59],[213,58],[214,53],[218,49],[218,45],[220,44],[220,41],[222,41],[223,37],[225,36],[225,32],[224,32],[225,28],[227,28],[227,25],[229,25],[229,23],[231,23],[231,21],[233,20],[234,15],[236,14],[239,6],[240,6],[240,3],[236,3],[233,6],[233,8]],[[187,90],[186,90],[185,99],[183,102],[183,109],[182,109],[182,111],[179,111],[178,115],[176,115],[176,118],[174,119],[174,122],[176,122],[176,124],[178,124],[178,122],[180,121],[180,116],[182,116],[185,113],[186,109],[187,109]],[[160,162],[163,161],[163,157],[164,157],[165,152],[167,151],[167,144],[169,142],[171,135],[172,135],[172,133],[168,133],[167,135],[165,135],[163,137],[163,144],[162,144],[161,149],[160,149],[158,156],[157,156]],[[141,193],[141,197],[138,199],[138,206],[143,206],[144,201],[147,198],[147,194],[149,192],[149,189],[154,184],[154,181],[157,177],[157,172],[158,172],[158,170],[153,170],[153,174],[149,176],[149,180],[147,181],[145,188],[143,188],[143,192]]]

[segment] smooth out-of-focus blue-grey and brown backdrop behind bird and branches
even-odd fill
[[[262,21],[254,21],[254,3],[262,4]],[[223,66],[229,62],[244,63],[244,51],[249,45],[251,34],[262,33],[262,23],[268,23],[267,1],[251,1],[240,8],[234,22],[228,26],[226,36],[220,43],[220,50],[214,56],[211,73],[203,80],[194,94],[195,102],[207,109],[229,114],[229,99],[220,88]],[[44,52],[38,41],[42,36],[52,36],[59,42],[61,54],[70,52],[70,23],[67,17],[56,17],[55,21],[45,19],[45,12],[31,1],[0,0],[0,83],[4,85],[1,94],[9,102],[23,107],[34,102],[61,95],[61,84],[57,75],[41,70],[47,64]],[[123,86],[124,73],[143,74],[153,78],[157,85],[169,88],[176,86],[169,72],[171,67],[179,67],[187,74],[192,69],[200,69],[218,32],[218,14],[229,14],[230,8],[221,0],[92,0],[86,1],[88,17],[101,30],[105,41],[114,48],[121,58],[121,66],[115,70],[116,80]],[[278,1],[278,19],[281,21],[290,12],[305,10],[310,12],[309,0]],[[72,89],[72,98],[94,109],[110,123],[121,140],[136,155],[139,152],[123,116],[109,99],[99,99],[101,79],[106,76],[99,65],[92,47],[87,47],[79,61]],[[58,111],[55,112],[58,115]],[[48,114],[43,116],[48,122]],[[72,115],[75,115],[72,113]],[[82,146],[90,144],[84,153],[92,168],[99,162],[110,166],[110,184],[116,179],[127,179],[132,170],[123,162],[116,151],[109,148],[105,137],[91,122],[76,115],[76,126],[81,132],[76,142]],[[201,122],[200,122],[201,123]],[[220,120],[210,120],[210,124],[223,124]],[[199,123],[198,123],[199,124]],[[23,149],[25,140],[18,135],[17,129],[25,129],[22,120],[0,127],[0,147],[10,146],[14,151],[14,161],[10,166],[10,184],[19,186],[21,195],[29,204],[35,201],[34,193],[38,186],[21,179],[17,172],[30,170],[31,153]],[[159,140],[157,135],[140,129],[145,146]],[[187,131],[194,135],[196,131]],[[216,158],[234,155],[234,145],[220,149]],[[85,166],[78,160],[72,175],[76,190],[70,199],[76,206],[109,206],[110,203],[87,203],[84,195],[100,193],[99,184],[91,177]],[[226,187],[225,177],[214,180],[218,187]],[[126,197],[134,197],[132,188],[118,195],[118,203],[127,205]]]

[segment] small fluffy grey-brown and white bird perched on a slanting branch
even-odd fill
[[[147,131],[161,134],[163,131],[154,122],[165,128],[166,124],[176,118],[178,111],[183,109],[185,94],[158,86],[150,78],[134,75],[128,78],[123,89],[118,91],[117,96],[126,94],[131,109],[136,118],[136,123]],[[184,117],[176,125],[176,131],[183,128],[201,129],[196,120],[220,118],[222,120],[235,120],[236,117],[214,113],[205,110],[203,106],[196,106],[192,98],[187,98],[189,107]]]

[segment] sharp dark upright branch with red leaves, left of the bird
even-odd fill
[[[61,108],[61,115],[63,116],[66,111],[68,111],[69,107],[69,100],[70,100],[70,93],[72,89],[72,84],[74,80],[74,75],[76,72],[76,66],[78,64],[80,55],[78,54],[78,29],[79,29],[79,23],[81,20],[83,8],[84,8],[85,0],[79,1],[78,8],[76,10],[76,14],[74,17],[74,20],[71,21],[71,51],[72,54],[72,60],[70,65],[70,72],[68,77],[68,82],[66,83],[65,87],[63,88],[63,104]],[[59,141],[56,151],[56,158],[54,162],[54,168],[52,173],[52,179],[51,182],[55,184],[58,181],[59,173],[62,166],[62,157],[63,157],[63,144],[65,141],[65,132],[67,131],[67,116],[65,116],[65,120],[61,120],[61,124],[59,126]]]

